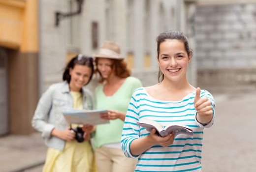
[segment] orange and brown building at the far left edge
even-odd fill
[[[0,0],[0,135],[28,134],[38,100],[37,0]]]

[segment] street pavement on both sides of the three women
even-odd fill
[[[256,90],[212,93],[216,120],[204,130],[203,172],[255,172]],[[40,133],[0,137],[0,172],[41,172],[47,147]]]

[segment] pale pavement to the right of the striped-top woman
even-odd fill
[[[256,90],[215,99],[215,123],[204,129],[203,172],[256,172]]]

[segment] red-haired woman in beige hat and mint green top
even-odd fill
[[[96,126],[94,137],[98,172],[133,172],[135,159],[126,158],[121,149],[121,135],[129,100],[133,91],[142,86],[130,76],[127,63],[115,42],[106,41],[96,54],[96,72],[100,85],[95,89],[96,109],[107,109],[102,118],[109,124]]]

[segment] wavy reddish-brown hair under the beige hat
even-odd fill
[[[113,70],[116,76],[120,78],[127,78],[130,76],[130,70],[127,68],[127,63],[124,60],[112,59],[112,58],[108,58],[108,59],[112,61],[111,69]],[[97,67],[98,58],[95,59],[95,63]],[[98,72],[100,75],[99,83],[103,83],[104,78],[102,77],[101,73],[97,68],[96,68],[96,72]]]

